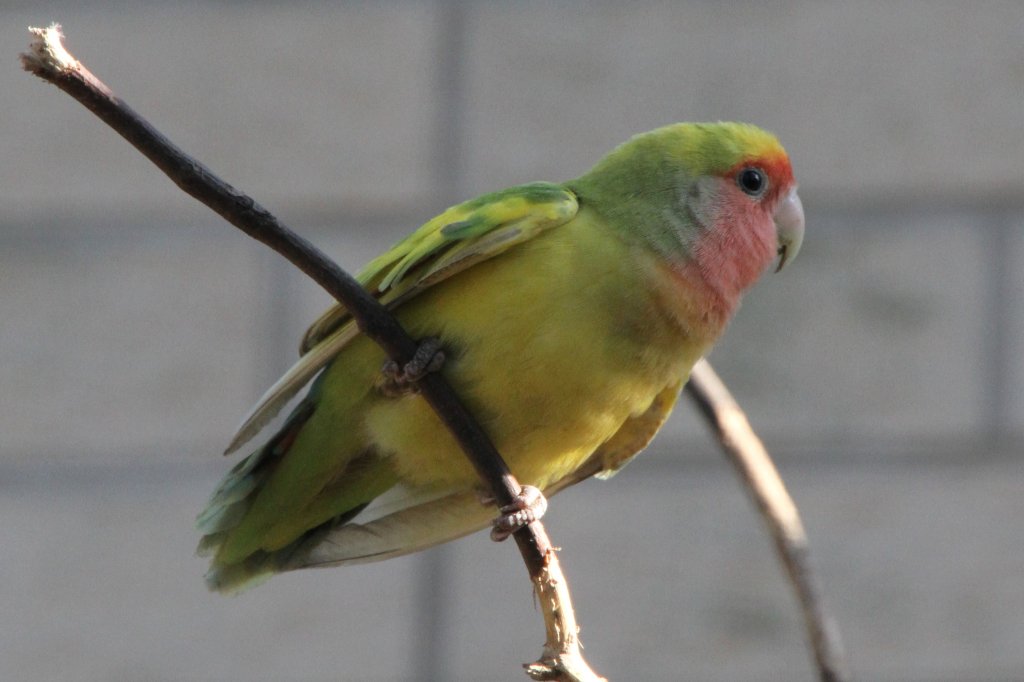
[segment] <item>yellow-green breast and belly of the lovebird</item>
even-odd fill
[[[442,339],[453,385],[520,481],[543,488],[644,412],[710,342],[687,338],[674,310],[687,307],[675,300],[686,292],[665,267],[584,209],[430,289],[399,317],[413,335]],[[419,396],[374,400],[365,426],[406,481],[477,484]]]

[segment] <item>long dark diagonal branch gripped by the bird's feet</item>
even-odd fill
[[[344,305],[359,330],[402,367],[418,347],[397,321],[351,275],[299,237],[252,198],[227,184],[186,155],[93,76],[62,44],[59,25],[29,29],[34,40],[20,55],[22,66],[52,83],[99,117],[118,134],[164,171],[181,189],[221,215],[229,223],[267,245],[308,274]],[[439,373],[420,382],[421,394],[455,435],[490,489],[499,507],[510,505],[521,486],[489,437]],[[540,660],[526,667],[537,680],[594,682],[600,680],[587,666],[577,634],[579,628],[555,551],[540,522],[514,535],[542,606],[547,640]]]

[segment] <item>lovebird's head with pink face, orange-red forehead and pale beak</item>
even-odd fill
[[[776,258],[776,271],[792,262],[803,242],[790,158],[774,135],[744,123],[677,123],[637,135],[578,183],[584,201],[597,197],[617,222],[729,300]]]

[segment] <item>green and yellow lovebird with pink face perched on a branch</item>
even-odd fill
[[[449,208],[356,276],[431,341],[422,367],[393,367],[340,305],[312,325],[228,452],[307,392],[198,517],[208,586],[386,559],[492,523],[477,474],[406,371],[441,372],[524,484],[500,520],[525,523],[543,496],[610,476],[803,235],[785,151],[742,123],[669,125],[574,180]]]

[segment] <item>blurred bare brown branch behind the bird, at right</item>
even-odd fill
[[[768,451],[707,360],[693,367],[686,392],[715,429],[768,524],[775,551],[797,592],[821,682],[847,682],[850,673],[839,627],[825,608],[821,585],[811,569],[807,534]]]

